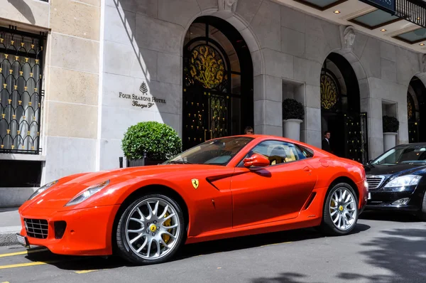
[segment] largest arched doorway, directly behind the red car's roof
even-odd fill
[[[184,150],[253,127],[251,54],[221,18],[197,18],[185,35],[182,117]]]

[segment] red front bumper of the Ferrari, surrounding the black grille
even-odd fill
[[[27,237],[30,245],[47,247],[51,252],[59,255],[111,255],[111,231],[118,210],[119,205],[67,211],[27,206],[20,210],[21,235]],[[46,220],[42,222],[47,223],[43,226],[46,228],[45,232],[40,233],[40,230],[35,230],[36,233],[31,233],[34,230],[29,228],[27,232],[24,218],[33,220],[34,223]],[[60,233],[55,233],[55,223],[59,221],[66,223],[65,232],[60,238],[58,238]],[[31,221],[28,222],[31,223]],[[46,232],[47,236],[45,236]]]

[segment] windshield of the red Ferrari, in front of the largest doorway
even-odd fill
[[[226,165],[249,144],[251,137],[225,137],[198,144],[163,164],[211,164]]]

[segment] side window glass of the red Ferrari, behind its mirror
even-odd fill
[[[290,142],[265,141],[256,145],[244,158],[253,154],[262,154],[269,159],[270,165],[284,164],[288,162],[306,159],[313,156],[312,152]],[[243,159],[244,160],[244,159]],[[241,160],[239,166],[244,166]]]

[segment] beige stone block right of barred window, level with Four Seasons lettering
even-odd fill
[[[97,105],[98,80],[96,74],[50,68],[48,100]]]

